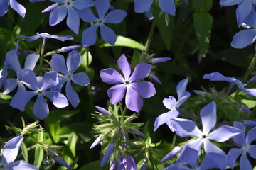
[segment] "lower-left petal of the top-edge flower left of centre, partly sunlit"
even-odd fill
[[[67,13],[68,13],[68,10],[64,5],[54,8],[53,11],[50,12],[50,21],[49,21],[50,26],[55,26],[61,21],[63,21],[65,16],[67,16]]]

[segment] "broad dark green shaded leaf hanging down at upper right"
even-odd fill
[[[194,13],[193,23],[195,27],[196,39],[203,57],[208,52],[210,44],[210,33],[213,26],[213,17],[209,13]]]

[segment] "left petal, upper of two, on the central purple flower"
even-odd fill
[[[107,84],[124,83],[122,75],[112,68],[100,70],[100,78]]]

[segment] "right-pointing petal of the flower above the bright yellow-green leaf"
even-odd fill
[[[127,13],[121,9],[115,9],[114,11],[110,11],[104,18],[106,23],[121,23],[124,18],[127,16]]]

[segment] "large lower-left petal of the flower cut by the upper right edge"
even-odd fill
[[[238,33],[234,35],[233,40],[231,42],[231,46],[238,49],[247,47],[252,43],[252,40],[255,38],[255,36],[255,29],[240,30]]]

